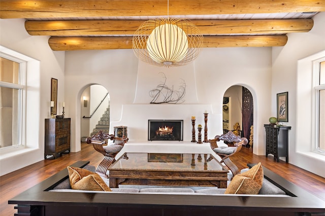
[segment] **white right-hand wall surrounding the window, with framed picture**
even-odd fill
[[[276,94],[288,92],[288,122],[291,126],[289,131],[289,163],[302,167],[320,176],[325,177],[325,159],[306,155],[307,152],[299,152],[299,147],[311,145],[311,95],[297,94],[297,65],[300,59],[318,53],[325,49],[325,12],[316,14],[313,18],[314,27],[307,33],[289,33],[288,42],[284,47],[274,47],[272,52],[272,116],[276,116]],[[310,64],[311,65],[311,64]],[[310,66],[311,67],[311,66]],[[311,68],[308,67],[309,70]],[[299,85],[306,85],[311,88],[311,80],[305,79]],[[304,100],[310,112],[297,113],[297,99]],[[309,102],[308,102],[309,101]],[[300,107],[299,107],[300,108]],[[304,110],[304,109],[303,109]],[[307,115],[307,116],[306,116]],[[305,118],[302,123],[300,118]],[[301,128],[299,133],[297,128]],[[255,129],[255,128],[254,128]],[[300,139],[299,135],[310,137],[306,142]],[[298,138],[297,138],[298,137]],[[322,159],[321,159],[322,158]]]

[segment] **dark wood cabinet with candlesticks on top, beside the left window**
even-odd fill
[[[55,159],[70,152],[71,119],[45,119],[45,159]]]

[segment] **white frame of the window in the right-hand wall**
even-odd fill
[[[317,154],[325,155],[325,151],[320,150],[319,148],[319,91],[325,90],[325,84],[319,84],[320,78],[320,63],[325,61],[325,56],[319,59],[314,60],[312,73],[313,73],[313,95],[312,95],[312,105],[313,105],[313,113],[312,113],[312,151]]]

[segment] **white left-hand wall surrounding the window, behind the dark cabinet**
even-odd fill
[[[24,27],[24,19],[0,19],[2,46],[39,61],[27,71],[26,148],[11,156],[1,151],[0,175],[44,159],[44,119],[50,118],[51,78],[58,80],[58,113],[64,101],[64,52],[53,52],[48,37],[32,37]],[[31,68],[31,67],[29,67]]]

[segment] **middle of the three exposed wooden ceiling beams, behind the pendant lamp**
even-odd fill
[[[67,20],[26,21],[30,35],[79,36],[79,35],[132,35],[143,20]],[[208,34],[268,34],[308,32],[312,19],[284,20],[193,20],[203,35]]]

